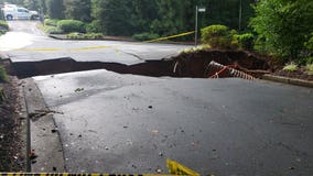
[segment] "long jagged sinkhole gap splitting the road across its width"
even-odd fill
[[[134,65],[104,62],[76,62],[71,57],[40,62],[15,62],[11,63],[9,73],[19,78],[28,78],[62,73],[107,69],[119,74],[151,77],[211,78],[223,69],[223,67],[218,68],[212,66],[213,62],[217,62],[224,66],[235,66],[236,69],[255,77],[259,77],[270,69],[267,61],[251,53],[244,51],[209,50],[195,53],[182,53],[169,59],[143,61],[143,63]],[[235,76],[234,74],[231,75],[231,72],[223,72],[218,77]]]

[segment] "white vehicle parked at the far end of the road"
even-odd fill
[[[4,8],[2,8],[2,11],[7,20],[35,20],[39,18],[37,11],[30,11],[15,4],[6,4]]]

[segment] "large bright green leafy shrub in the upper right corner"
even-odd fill
[[[313,29],[312,0],[261,0],[250,25],[257,32],[257,50],[280,58],[298,58]]]

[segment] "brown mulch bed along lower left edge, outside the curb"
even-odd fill
[[[0,99],[0,172],[21,172],[24,168],[23,142],[19,119],[18,85],[10,78],[0,82],[6,99]]]

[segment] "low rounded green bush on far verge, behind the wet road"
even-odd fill
[[[57,22],[57,28],[65,33],[86,32],[84,22],[78,20],[61,20]]]

